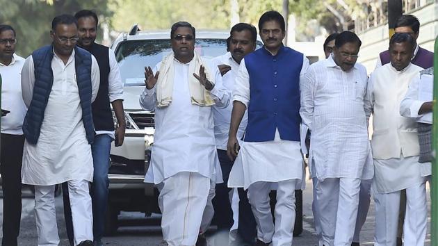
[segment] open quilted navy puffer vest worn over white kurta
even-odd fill
[[[74,48],[74,60],[76,68],[76,81],[81,99],[82,121],[86,129],[86,137],[91,144],[94,140],[95,131],[91,114],[91,54],[79,47]],[[54,83],[54,75],[51,69],[51,60],[54,57],[53,46],[47,45],[33,51],[32,58],[35,67],[35,85],[31,105],[24,117],[23,132],[26,140],[36,145],[40,137],[44,110],[49,101],[51,86]]]

